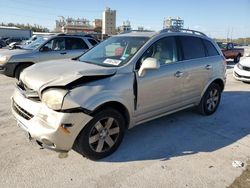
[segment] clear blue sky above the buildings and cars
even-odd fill
[[[58,16],[101,18],[105,7],[117,10],[117,26],[159,30],[165,17],[181,17],[186,28],[211,37],[250,37],[250,0],[1,0],[0,22],[55,27]]]

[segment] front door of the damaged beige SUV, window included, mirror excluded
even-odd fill
[[[142,56],[160,62],[157,70],[147,70],[143,77],[136,73],[138,85],[136,122],[172,111],[182,105],[183,63],[178,62],[175,37],[155,42]]]

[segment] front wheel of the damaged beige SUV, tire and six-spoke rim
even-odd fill
[[[109,120],[112,122],[108,123]],[[107,128],[109,125],[110,128]],[[114,134],[118,130],[119,132]],[[106,108],[95,114],[94,118],[83,128],[76,139],[74,148],[91,160],[102,159],[116,151],[122,142],[124,132],[124,117],[117,110]]]

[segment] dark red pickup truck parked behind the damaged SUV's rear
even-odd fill
[[[226,59],[234,59],[234,62],[238,63],[240,58],[244,56],[244,48],[235,48],[234,43],[217,42],[217,44]]]

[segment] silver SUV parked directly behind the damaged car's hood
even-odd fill
[[[0,52],[0,73],[18,79],[26,67],[47,60],[75,58],[97,43],[89,35],[40,37],[21,49]]]

